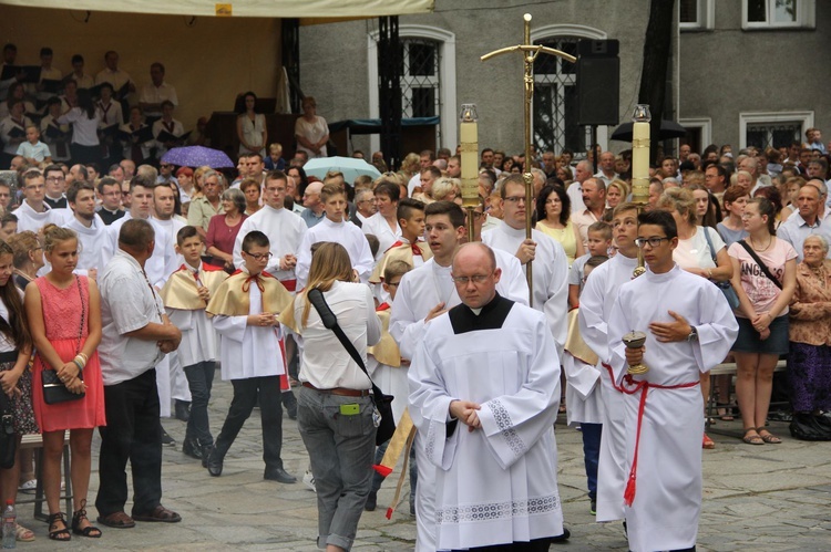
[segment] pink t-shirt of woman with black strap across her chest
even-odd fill
[[[727,254],[739,261],[739,270],[741,277],[741,289],[747,293],[748,299],[753,304],[753,309],[757,313],[770,311],[773,306],[779,294],[782,292],[777,285],[765,275],[761,268],[756,263],[750,253],[748,253],[741,243],[738,241],[730,246],[727,250]],[[773,274],[777,280],[781,283],[784,279],[784,264],[791,259],[797,258],[797,250],[793,246],[784,240],[774,239],[770,248],[767,251],[756,251],[759,259],[767,264],[768,270]],[[786,306],[779,315],[788,314],[788,308]],[[745,316],[739,310],[736,311],[737,316]]]

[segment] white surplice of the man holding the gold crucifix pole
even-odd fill
[[[532,230],[531,239],[536,242],[535,260],[531,263],[534,285],[532,306],[545,314],[562,358],[568,331],[568,260],[563,246],[540,230]],[[516,254],[523,241],[525,229],[517,230],[505,223],[482,233],[482,243],[511,254]],[[525,269],[526,265],[523,265],[523,272]]]

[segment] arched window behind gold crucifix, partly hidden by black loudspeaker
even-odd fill
[[[531,33],[534,44],[576,55],[581,39],[606,38],[606,33],[583,25],[548,25]],[[577,125],[576,64],[562,58],[541,54],[534,62],[534,106],[532,143],[538,153],[563,149],[586,150],[586,132]],[[606,127],[598,129],[605,142]]]

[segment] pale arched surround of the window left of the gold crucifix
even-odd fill
[[[399,39],[428,39],[439,42],[439,137],[437,150],[441,147],[455,152],[459,144],[459,105],[455,96],[455,34],[437,27],[400,24]],[[380,117],[378,107],[378,38],[379,32],[367,35],[367,65],[369,71],[369,117]],[[369,144],[372,152],[381,149],[381,136],[371,134]]]

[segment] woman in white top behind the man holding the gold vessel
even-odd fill
[[[733,269],[725,242],[715,229],[696,225],[693,192],[686,188],[670,188],[658,198],[656,207],[670,212],[678,227],[678,247],[673,251],[673,260],[678,267],[714,283],[729,281]],[[700,379],[707,404],[710,396],[710,374],[702,373]],[[716,444],[705,434],[704,448],[715,447]]]

